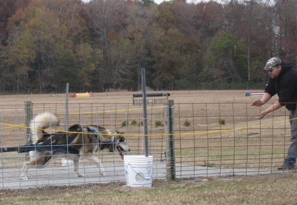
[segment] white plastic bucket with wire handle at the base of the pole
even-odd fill
[[[152,187],[153,156],[125,155],[124,163],[127,186]]]

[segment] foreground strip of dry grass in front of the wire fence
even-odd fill
[[[0,190],[0,204],[296,204],[296,173],[153,181],[152,188],[122,182],[88,186]]]

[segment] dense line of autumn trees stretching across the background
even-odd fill
[[[262,89],[296,44],[295,0],[0,0],[0,91]]]

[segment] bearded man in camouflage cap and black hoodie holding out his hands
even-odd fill
[[[290,111],[291,145],[284,163],[281,167],[278,167],[278,170],[294,169],[297,157],[297,119],[294,119],[297,118],[297,70],[292,68],[291,63],[283,62],[278,57],[269,59],[264,69],[270,75],[269,82],[261,100],[254,101],[252,106],[260,107],[268,102],[273,95],[278,94],[278,101],[262,111],[260,116],[256,116],[256,119],[262,119],[269,112],[283,106]]]

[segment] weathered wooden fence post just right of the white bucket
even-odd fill
[[[175,149],[174,149],[174,101],[167,100],[165,107],[165,134],[166,135],[166,178],[175,180]]]

